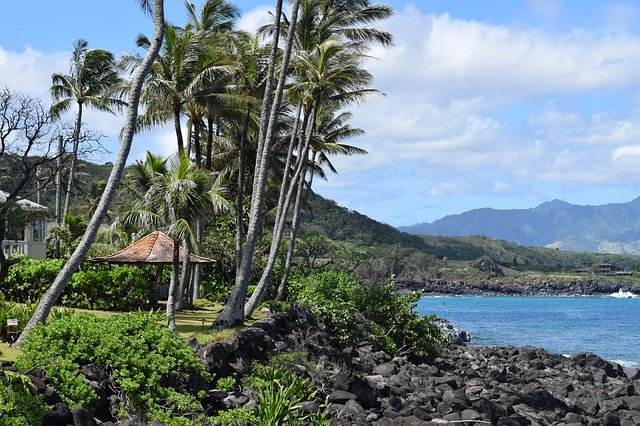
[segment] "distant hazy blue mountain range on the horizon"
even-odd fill
[[[398,229],[450,237],[484,235],[577,252],[640,254],[640,197],[600,206],[553,200],[530,209],[474,209]]]

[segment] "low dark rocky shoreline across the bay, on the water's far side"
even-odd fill
[[[430,279],[424,281],[399,281],[405,291],[419,291],[425,295],[474,295],[474,296],[589,296],[609,295],[618,291],[640,295],[640,287],[619,282],[598,280],[582,281],[513,281],[513,282],[465,282]]]

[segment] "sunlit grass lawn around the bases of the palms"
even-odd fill
[[[254,322],[265,317],[265,314],[259,311],[254,313],[254,317],[245,320],[242,326],[234,327],[228,330],[214,331],[211,329],[213,320],[222,310],[222,305],[214,304],[213,306],[203,307],[193,310],[185,310],[176,313],[176,325],[180,337],[189,338],[195,336],[198,342],[209,343],[225,340],[245,327],[250,327]],[[120,312],[112,311],[90,311],[86,309],[73,309],[76,313],[89,312],[99,317],[110,317],[120,314]],[[164,312],[164,308],[160,308],[160,312]],[[0,361],[15,361],[20,350],[12,348],[8,343],[0,342]]]

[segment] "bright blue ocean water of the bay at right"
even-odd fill
[[[447,318],[477,345],[531,345],[571,355],[593,352],[640,367],[640,298],[427,296],[422,315]]]

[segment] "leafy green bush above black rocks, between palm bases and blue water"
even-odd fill
[[[424,358],[436,354],[444,336],[434,316],[415,312],[419,294],[400,295],[392,280],[367,287],[344,271],[322,271],[291,281],[295,302],[309,306],[328,320],[345,343],[374,340],[392,355]]]

